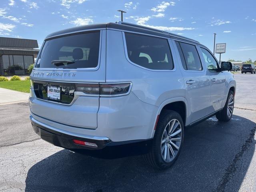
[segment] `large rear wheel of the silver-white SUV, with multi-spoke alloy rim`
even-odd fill
[[[170,127],[173,127],[173,130],[168,134],[167,132],[169,132]],[[164,134],[165,130],[167,130],[166,134]],[[177,134],[173,135],[174,133]],[[170,137],[170,135],[173,136]],[[168,138],[168,140],[166,140],[165,137]],[[171,167],[180,154],[183,140],[184,124],[180,114],[172,110],[162,111],[156,126],[152,148],[150,152],[144,154],[145,161],[150,164],[150,166],[161,170]],[[173,144],[176,145],[176,147]]]

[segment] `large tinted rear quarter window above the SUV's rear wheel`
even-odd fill
[[[156,70],[172,70],[173,62],[168,40],[125,33],[129,59],[137,65]]]

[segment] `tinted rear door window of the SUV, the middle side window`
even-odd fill
[[[185,70],[193,70],[193,71],[201,71],[202,64],[196,50],[196,46],[179,42],[181,50],[179,51],[182,66],[184,66],[184,62],[186,64]],[[179,48],[178,48],[179,49]],[[182,54],[180,53],[182,52]],[[182,58],[183,57],[183,58]]]

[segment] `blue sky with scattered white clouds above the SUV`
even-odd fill
[[[193,38],[213,50],[226,43],[222,60],[256,60],[255,0],[1,0],[0,36],[38,40],[74,26],[124,21]],[[218,54],[216,57],[218,58]]]

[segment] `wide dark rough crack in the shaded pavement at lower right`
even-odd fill
[[[248,149],[250,144],[253,142],[255,131],[256,131],[256,126],[252,130],[250,130],[249,138],[242,145],[241,150],[235,155],[232,163],[228,166],[228,168],[226,168],[226,172],[225,172],[224,176],[222,177],[220,184],[217,186],[216,191],[218,191],[218,192],[225,191],[226,185],[233,178],[234,173],[236,172],[236,169],[237,169],[236,164],[238,163],[238,161],[240,160],[240,158],[242,157],[244,152]]]

